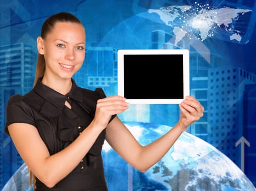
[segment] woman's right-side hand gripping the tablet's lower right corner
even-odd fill
[[[203,106],[192,96],[187,96],[179,104],[179,108],[181,111],[179,123],[184,130],[203,116]]]

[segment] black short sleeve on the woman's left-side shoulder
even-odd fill
[[[12,123],[29,123],[36,126],[35,117],[33,116],[32,109],[22,100],[22,96],[14,95],[10,97],[6,109],[4,133],[9,135],[8,126]]]

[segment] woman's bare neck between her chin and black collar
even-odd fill
[[[69,93],[72,88],[71,79],[52,79],[47,76],[43,76],[42,83],[62,95]]]

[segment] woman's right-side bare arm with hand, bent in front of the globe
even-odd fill
[[[191,123],[203,116],[203,106],[191,96],[179,108],[181,115],[178,123],[149,145],[141,146],[117,117],[106,128],[106,140],[130,165],[145,172],[168,152]]]

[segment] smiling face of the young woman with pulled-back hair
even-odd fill
[[[77,23],[57,22],[43,40],[44,75],[70,79],[81,68],[85,57],[86,34]]]

